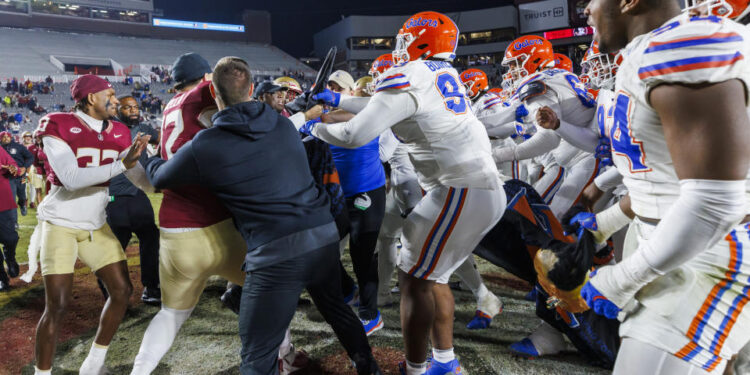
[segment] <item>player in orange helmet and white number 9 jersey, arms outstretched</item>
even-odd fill
[[[505,209],[490,143],[471,112],[451,66],[458,27],[437,12],[410,17],[396,36],[396,65],[381,76],[372,98],[323,92],[327,104],[357,115],[348,122],[301,129],[340,147],[355,148],[391,129],[409,145],[426,195],[404,223],[398,267],[406,373],[461,373],[453,353],[454,299],[446,284]],[[426,369],[428,336],[433,356]]]

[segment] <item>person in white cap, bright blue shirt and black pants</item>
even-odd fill
[[[354,79],[343,70],[328,79],[331,91],[351,95]],[[332,113],[337,121],[353,115]],[[378,311],[378,260],[375,245],[385,215],[385,170],[380,162],[379,137],[362,147],[348,149],[330,145],[339,171],[349,214],[349,253],[359,284],[359,319],[368,335],[383,328]],[[345,291],[346,293],[346,291]]]

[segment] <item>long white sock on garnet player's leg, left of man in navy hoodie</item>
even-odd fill
[[[159,310],[154,319],[151,320],[151,323],[148,324],[148,328],[146,328],[141,348],[135,357],[131,375],[148,375],[156,369],[161,358],[172,347],[172,343],[180,327],[182,327],[182,324],[185,323],[192,312],[192,308],[188,310],[176,310],[169,307],[162,307]]]

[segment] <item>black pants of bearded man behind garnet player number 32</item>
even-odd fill
[[[141,257],[141,283],[147,288],[159,286],[159,228],[154,209],[142,191],[135,196],[118,196],[107,205],[107,224],[123,250],[133,233],[138,237]]]

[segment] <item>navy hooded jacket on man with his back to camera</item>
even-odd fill
[[[338,242],[328,194],[313,181],[291,121],[260,102],[212,121],[169,161],[149,159],[154,187],[200,184],[216,194],[247,243],[246,272]]]

